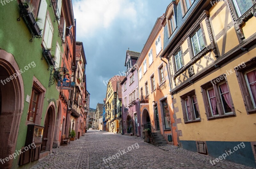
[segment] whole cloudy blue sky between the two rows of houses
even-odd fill
[[[84,44],[90,107],[106,97],[107,81],[126,70],[126,50],[141,52],[170,0],[73,0],[76,41]],[[106,81],[105,84],[103,81]]]

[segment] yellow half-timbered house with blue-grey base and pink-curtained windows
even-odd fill
[[[255,1],[189,2],[163,22],[179,146],[256,167]]]

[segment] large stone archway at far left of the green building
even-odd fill
[[[12,64],[10,64],[12,63]],[[0,49],[0,158],[14,153],[20,118],[24,108],[24,87],[22,76],[13,55]],[[10,76],[15,76],[12,80]],[[12,168],[12,161],[5,161],[0,168]]]

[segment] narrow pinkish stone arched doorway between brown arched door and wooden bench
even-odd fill
[[[61,118],[61,104],[59,102],[57,117],[56,117],[56,122],[55,122],[55,128],[54,128],[53,147],[59,147],[59,145],[60,145],[60,123],[61,123],[60,118]]]

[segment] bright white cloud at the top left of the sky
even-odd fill
[[[137,24],[136,5],[130,0],[80,0],[73,2],[77,34],[92,36],[99,29],[108,29],[121,18]]]

